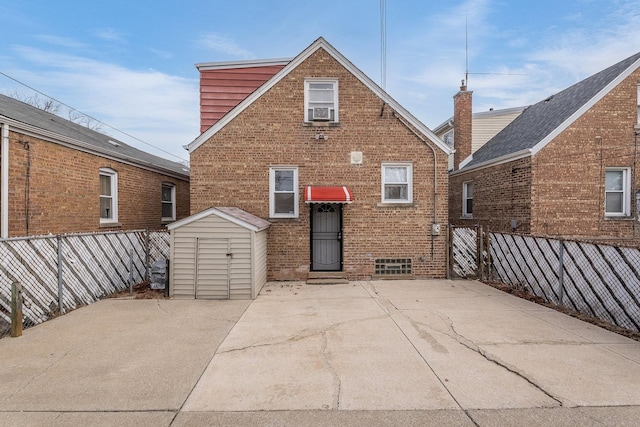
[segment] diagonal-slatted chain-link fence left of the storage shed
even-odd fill
[[[23,327],[128,289],[169,257],[169,233],[69,234],[0,241],[0,338],[10,331],[11,285],[22,284]]]

